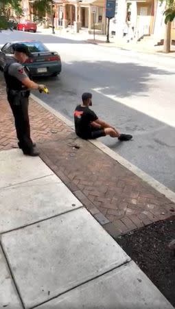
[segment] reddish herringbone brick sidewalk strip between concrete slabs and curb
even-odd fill
[[[0,89],[0,150],[7,150],[17,141],[2,82]],[[89,141],[78,139],[34,100],[30,124],[40,157],[112,236],[174,215],[174,203]]]

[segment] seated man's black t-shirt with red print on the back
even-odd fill
[[[74,111],[75,133],[83,139],[91,138],[91,122],[98,117],[88,106],[78,105]]]

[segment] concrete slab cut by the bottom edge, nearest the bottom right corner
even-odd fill
[[[36,308],[173,309],[134,262],[116,268]]]

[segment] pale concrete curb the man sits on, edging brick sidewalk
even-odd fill
[[[50,113],[58,117],[62,122],[67,124],[67,126],[74,128],[74,124],[73,122],[71,122],[71,120],[67,119],[65,116],[60,114],[58,111],[55,111],[54,108],[51,108],[50,106],[48,106],[45,102],[43,102],[43,100],[38,99],[36,95],[32,94],[31,98],[34,101],[36,101],[38,104],[46,108],[47,111],[49,111]],[[172,201],[172,203],[175,203],[175,193],[172,192],[172,190],[170,190],[168,187],[165,187],[165,185],[163,185],[162,183],[159,183],[159,181],[156,181],[156,179],[154,179],[152,176],[146,174],[145,172],[143,172],[143,170],[140,170],[139,168],[137,168],[137,166],[133,165],[132,163],[130,163],[129,161],[127,161],[126,159],[118,155],[116,152],[114,152],[113,150],[111,150],[110,148],[102,144],[101,141],[89,140],[89,142],[93,144],[94,146],[96,146],[97,148],[99,148],[100,150],[102,150],[103,152],[105,152],[106,155],[108,155],[109,157],[117,161],[119,164],[123,165],[125,168],[133,172],[135,175],[139,176],[140,179],[148,183],[151,187],[153,187],[159,193],[166,196],[166,198]]]

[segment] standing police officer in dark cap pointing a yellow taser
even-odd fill
[[[30,80],[28,71],[23,67],[23,63],[32,56],[25,44],[16,43],[13,45],[14,58],[4,68],[4,78],[7,87],[8,102],[14,115],[16,135],[19,139],[19,148],[24,155],[36,157],[39,152],[30,137],[30,120],[28,115],[28,105],[30,89],[43,91],[45,85],[36,84]]]

